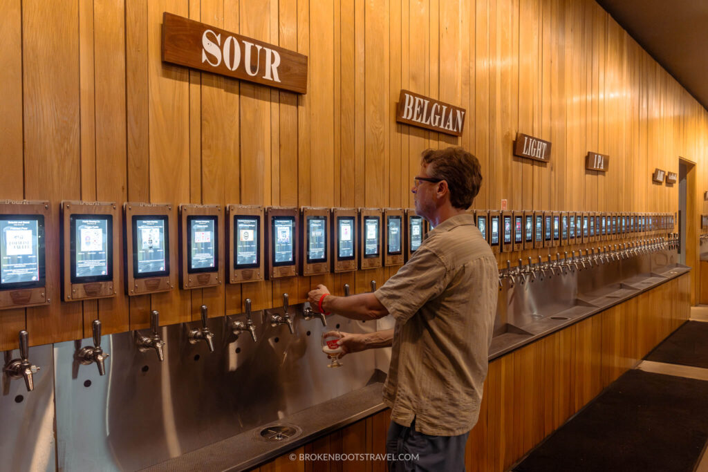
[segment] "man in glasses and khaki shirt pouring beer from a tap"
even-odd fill
[[[392,347],[384,402],[392,408],[387,453],[392,471],[462,471],[469,430],[479,416],[496,316],[498,270],[465,210],[479,192],[479,161],[461,148],[424,151],[411,192],[416,213],[435,229],[375,293],[308,294],[314,309],[356,320],[391,314],[392,330],[343,333],[345,353]]]

